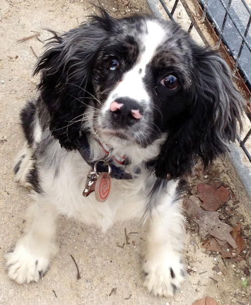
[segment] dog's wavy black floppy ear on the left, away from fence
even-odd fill
[[[38,88],[50,113],[51,133],[68,150],[77,147],[81,114],[93,94],[89,73],[107,36],[99,21],[108,23],[110,17],[101,13],[103,18],[94,17],[91,23],[62,36],[51,31],[54,34],[49,42],[51,48],[39,59],[34,72],[41,72]]]

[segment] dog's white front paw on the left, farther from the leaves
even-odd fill
[[[37,255],[25,242],[20,242],[6,254],[8,275],[19,284],[37,282],[49,268],[50,256]]]

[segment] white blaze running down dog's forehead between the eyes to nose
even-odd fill
[[[158,23],[151,20],[146,22],[146,26],[147,31],[140,39],[139,58],[133,68],[122,76],[122,80],[110,92],[103,105],[103,113],[109,109],[111,102],[119,97],[129,97],[145,104],[150,102],[150,96],[145,88],[143,78],[146,74],[146,66],[153,59],[157,48],[165,37],[165,31]]]

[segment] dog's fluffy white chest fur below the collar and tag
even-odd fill
[[[46,195],[38,196],[48,197],[44,199],[53,201],[59,213],[74,217],[87,225],[98,226],[102,231],[116,221],[143,216],[146,204],[143,177],[132,180],[112,178],[107,200],[97,202],[94,193],[88,197],[82,195],[90,166],[78,152],[66,152],[56,162],[60,164],[58,173],[55,174],[54,167],[49,174],[46,172],[47,178],[43,179],[42,186]],[[40,171],[43,175],[43,169]]]

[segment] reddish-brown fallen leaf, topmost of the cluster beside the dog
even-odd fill
[[[199,183],[197,189],[197,196],[203,202],[201,206],[206,211],[216,211],[229,197],[228,189],[216,184]]]

